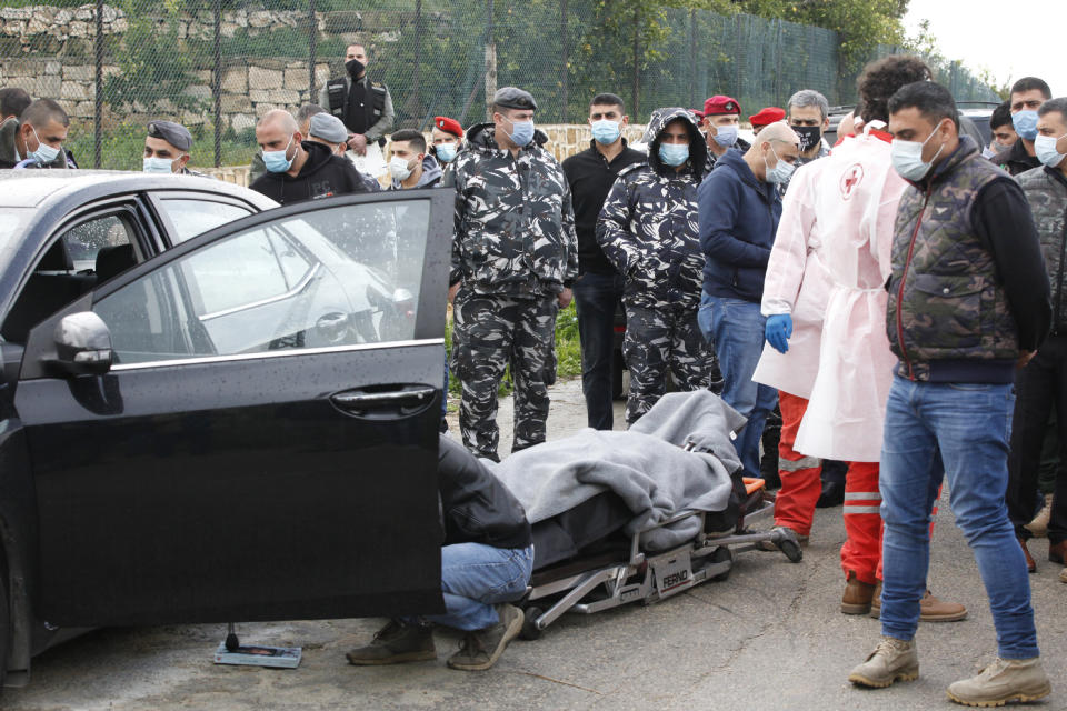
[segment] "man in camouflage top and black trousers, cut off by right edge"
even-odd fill
[[[1060,413],[1059,444],[1067,443],[1067,274],[1064,273],[1067,246],[1067,98],[1050,99],[1038,109],[1034,148],[1040,168],[1017,178],[1030,203],[1037,234],[1045,252],[1045,266],[1053,284],[1053,330],[1034,360],[1018,373],[1015,392],[1015,420],[1011,427],[1011,455],[1008,459],[1008,514],[1016,535],[1026,551],[1027,564],[1036,569],[1026,550],[1030,538],[1025,528],[1034,518],[1041,442],[1045,423],[1053,407]],[[1060,461],[1067,457],[1060,454]],[[1067,474],[1056,471],[1048,521],[1048,560],[1060,565],[1067,557]],[[1067,569],[1065,569],[1067,570]],[[1061,575],[1067,581],[1067,572]]]

